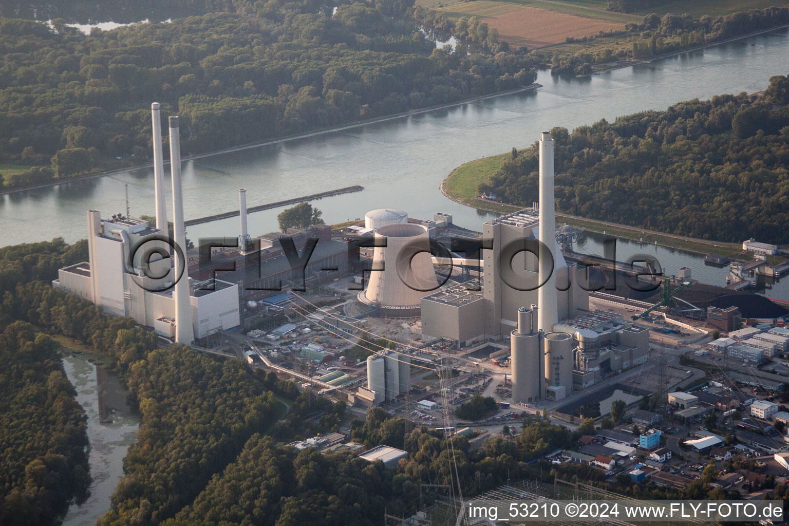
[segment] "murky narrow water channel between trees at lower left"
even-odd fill
[[[93,526],[110,509],[110,496],[123,476],[123,457],[140,420],[129,410],[124,386],[103,364],[106,357],[67,350],[62,360],[77,402],[88,415],[92,477],[88,500],[71,505],[63,526]]]

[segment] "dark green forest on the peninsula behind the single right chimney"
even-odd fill
[[[789,79],[759,94],[690,100],[599,121],[555,139],[556,209],[699,237],[785,241]],[[538,151],[507,155],[480,191],[537,201]]]

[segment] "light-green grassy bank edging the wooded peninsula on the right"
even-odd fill
[[[492,212],[507,214],[517,211],[522,207],[491,203],[490,201],[478,199],[477,188],[480,183],[488,181],[488,177],[499,169],[501,161],[509,152],[499,155],[492,155],[483,159],[466,162],[458,166],[443,180],[441,189],[444,195],[451,200],[467,207],[478,208]],[[616,237],[643,241],[645,243],[657,243],[665,247],[679,248],[690,252],[701,254],[717,253],[724,256],[737,256],[742,252],[742,245],[736,243],[722,243],[719,241],[706,241],[693,237],[675,237],[672,234],[647,232],[637,226],[619,225],[616,223],[602,222],[595,219],[574,218],[559,214],[559,222],[565,222],[570,226],[589,230],[591,232],[607,233]]]

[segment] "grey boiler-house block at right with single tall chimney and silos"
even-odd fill
[[[513,401],[522,403],[560,400],[649,356],[647,327],[589,311],[585,270],[567,263],[555,239],[551,134],[539,145],[540,206],[485,222],[487,246],[475,269],[480,274],[481,264],[481,278],[421,300],[425,339],[448,338],[462,348],[510,337]],[[465,256],[454,261],[472,266],[473,255]]]

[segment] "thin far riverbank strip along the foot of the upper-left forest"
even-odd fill
[[[204,159],[205,157],[211,157],[212,155],[229,154],[229,153],[233,153],[235,151],[244,151],[244,150],[249,150],[251,148],[271,146],[273,144],[284,144],[284,143],[287,143],[287,142],[290,142],[290,141],[293,141],[293,140],[308,139],[310,137],[326,135],[328,133],[342,132],[342,131],[346,131],[346,130],[349,130],[349,129],[361,128],[362,126],[366,126],[366,125],[377,124],[377,123],[386,122],[386,121],[393,121],[395,119],[400,119],[400,118],[408,118],[408,117],[411,117],[413,115],[426,114],[428,112],[436,111],[436,110],[445,110],[445,109],[448,109],[448,108],[454,108],[456,106],[463,106],[464,104],[475,103],[475,102],[480,101],[480,100],[492,99],[494,97],[500,97],[500,96],[504,96],[504,95],[514,95],[516,93],[521,93],[522,91],[529,91],[529,90],[533,90],[533,89],[537,89],[537,88],[542,88],[542,84],[537,84],[535,82],[535,83],[529,84],[528,86],[525,86],[523,88],[517,88],[517,89],[514,89],[514,90],[508,90],[508,91],[497,91],[495,93],[491,93],[491,94],[488,94],[488,95],[480,95],[478,97],[472,97],[470,99],[459,100],[459,101],[454,102],[454,103],[439,104],[438,106],[430,106],[430,107],[427,107],[427,108],[419,108],[418,110],[404,111],[404,112],[399,113],[399,114],[387,115],[385,117],[379,117],[379,118],[374,118],[374,119],[368,119],[366,121],[357,121],[354,124],[336,126],[334,128],[319,129],[319,130],[312,131],[312,132],[305,132],[305,133],[301,133],[299,135],[293,135],[293,136],[285,136],[285,137],[281,137],[279,139],[267,140],[267,141],[263,141],[263,142],[241,144],[239,146],[229,147],[229,148],[225,148],[223,150],[215,150],[215,151],[208,151],[208,152],[200,153],[200,154],[186,155],[185,157],[181,157],[181,163],[193,161],[195,159]],[[166,160],[164,162],[164,166],[168,166],[168,165],[170,165],[170,161]],[[24,186],[22,188],[0,188],[0,196],[6,196],[6,195],[20,193],[20,192],[27,192],[29,190],[39,190],[41,188],[50,188],[52,186],[65,185],[67,183],[73,183],[73,182],[77,182],[77,181],[88,181],[88,180],[91,180],[91,179],[97,179],[99,177],[108,177],[110,175],[118,175],[119,173],[127,173],[127,172],[129,172],[131,170],[146,170],[146,169],[152,169],[152,168],[153,168],[153,162],[144,162],[144,163],[141,163],[141,164],[124,166],[122,168],[118,168],[118,169],[115,169],[115,170],[107,170],[107,171],[103,171],[103,172],[99,172],[99,173],[86,173],[85,175],[80,175],[80,176],[77,176],[77,177],[69,177],[68,179],[62,179],[62,180],[57,180],[57,181],[49,181],[49,182],[43,183],[41,185]]]

